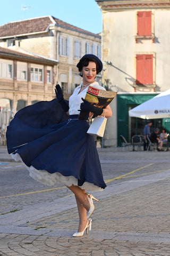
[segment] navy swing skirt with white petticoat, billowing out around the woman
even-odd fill
[[[45,185],[104,189],[95,141],[87,133],[89,124],[77,118],[67,116],[57,99],[21,109],[7,127],[8,153]]]

